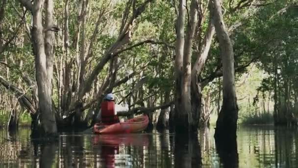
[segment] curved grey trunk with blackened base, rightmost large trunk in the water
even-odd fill
[[[236,101],[233,46],[224,25],[221,0],[212,0],[210,11],[220,43],[223,62],[223,106],[219,113],[215,138],[236,139],[238,106]]]

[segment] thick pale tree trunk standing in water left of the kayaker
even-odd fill
[[[33,4],[33,45],[35,49],[35,68],[36,68],[36,83],[38,87],[39,97],[39,112],[41,113],[41,126],[42,132],[38,133],[41,136],[56,136],[57,126],[55,120],[55,114],[52,111],[51,101],[51,77],[52,77],[52,53],[50,48],[52,41],[51,36],[46,33],[46,45],[43,35],[42,25],[42,6],[43,0],[36,0]],[[47,0],[46,3],[47,16],[46,20],[51,20],[52,17],[49,13],[52,12],[53,3],[52,0]],[[51,23],[47,21],[47,23]],[[46,24],[48,25],[48,24]],[[50,43],[50,44],[48,44]],[[45,50],[45,46],[46,48]],[[45,52],[47,51],[47,52]],[[48,55],[46,55],[46,53]],[[36,125],[35,125],[36,127]],[[35,134],[34,134],[35,135]]]

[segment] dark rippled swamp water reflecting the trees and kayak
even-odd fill
[[[64,133],[58,142],[42,144],[29,139],[29,128],[20,128],[16,134],[0,130],[0,168],[217,168],[230,162],[240,168],[298,167],[297,129],[239,127],[238,157],[219,155],[213,135],[214,129],[190,138],[168,131]]]

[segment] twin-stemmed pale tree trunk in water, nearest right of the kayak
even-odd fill
[[[179,15],[177,20],[176,43],[176,102],[175,102],[175,130],[176,132],[197,131],[192,130],[194,124],[191,106],[191,56],[192,44],[197,27],[197,0],[192,0],[190,5],[190,20],[187,25],[186,39],[184,41],[184,20],[186,1],[180,0]],[[183,63],[183,64],[182,64]],[[181,67],[182,66],[182,67]],[[182,71],[181,71],[182,70]],[[181,81],[181,83],[179,82]],[[178,93],[181,91],[181,94]]]

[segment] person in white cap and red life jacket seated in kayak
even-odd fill
[[[117,116],[118,112],[128,112],[128,106],[115,104],[115,97],[112,93],[108,93],[100,105],[99,113],[96,117],[97,122],[104,125],[111,125],[120,122]]]

